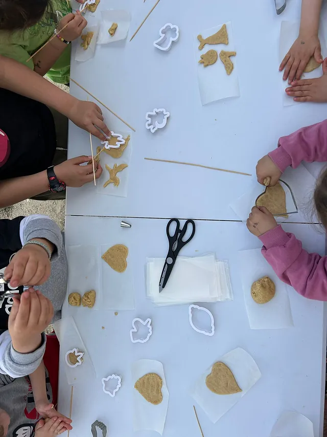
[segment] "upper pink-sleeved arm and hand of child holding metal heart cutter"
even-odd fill
[[[256,166],[258,182],[263,184],[264,179],[270,177],[270,185],[275,185],[288,166],[296,168],[301,161],[327,161],[327,120],[279,138],[278,147],[261,158]]]

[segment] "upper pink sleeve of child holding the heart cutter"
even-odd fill
[[[327,161],[327,120],[279,138],[278,147],[268,155],[282,172],[290,165],[298,167],[301,161]]]

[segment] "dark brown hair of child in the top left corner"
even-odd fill
[[[0,30],[26,29],[43,16],[51,0],[0,0]]]

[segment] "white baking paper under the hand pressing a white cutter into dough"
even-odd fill
[[[122,133],[122,132],[116,132],[116,134],[120,134],[123,136],[123,138],[127,138],[130,133]],[[102,144],[99,144],[101,148],[103,147]],[[132,155],[132,139],[130,138],[128,145],[126,149],[123,152],[123,155],[121,158],[112,158],[110,155],[108,155],[105,151],[101,152],[100,154],[100,164],[103,168],[103,172],[100,176],[100,178],[97,180],[97,193],[99,194],[107,194],[107,195],[114,195],[114,196],[121,196],[126,197],[127,191],[128,191],[128,174],[130,171],[130,162],[131,162],[131,155]],[[124,170],[119,171],[117,173],[117,177],[120,180],[120,183],[118,186],[114,186],[113,184],[109,184],[104,188],[104,184],[106,181],[110,179],[109,171],[106,169],[106,164],[113,168],[114,164],[117,164],[119,166],[120,164],[127,164],[128,167],[124,168]]]

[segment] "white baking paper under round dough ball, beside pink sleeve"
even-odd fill
[[[282,282],[267,263],[261,249],[239,252],[245,306],[251,329],[279,329],[293,326],[288,297],[288,286]],[[256,303],[251,286],[256,280],[268,276],[275,284],[275,296],[267,303]]]

